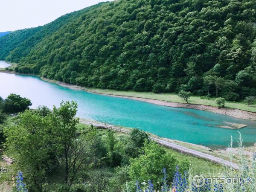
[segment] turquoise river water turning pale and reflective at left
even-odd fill
[[[210,147],[228,146],[230,137],[236,143],[237,130],[218,128],[224,122],[248,125],[240,130],[244,145],[256,143],[256,122],[236,119],[206,111],[170,108],[131,99],[102,96],[72,90],[42,81],[35,76],[0,73],[0,96],[10,93],[31,99],[32,108],[46,105],[52,108],[64,100],[78,103],[77,116],[112,125],[140,128],[160,137],[166,137]]]

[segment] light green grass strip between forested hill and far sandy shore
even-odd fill
[[[168,102],[186,103],[185,101],[181,100],[180,97],[175,93],[152,93],[152,92],[137,92],[132,90],[123,91],[123,90],[109,90],[109,89],[103,90],[103,89],[92,88],[92,87],[86,87],[86,88],[90,91],[93,91],[96,93],[102,93],[102,94],[141,97],[146,99],[157,99],[157,100],[163,100]],[[216,105],[215,99],[201,99],[198,96],[192,96],[189,99],[189,103],[218,107]],[[256,104],[248,106],[244,102],[226,102],[225,106],[227,108],[235,108],[235,109],[240,109],[244,111],[256,112]]]

